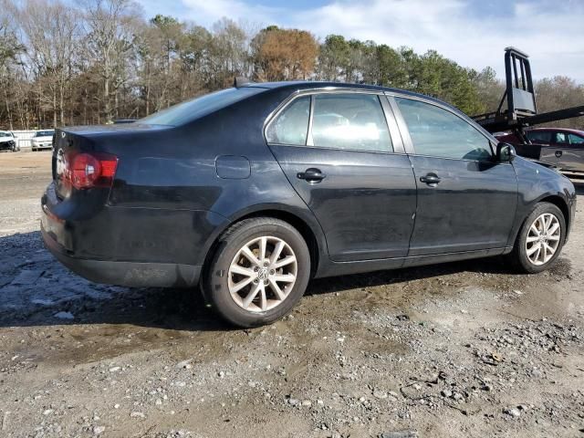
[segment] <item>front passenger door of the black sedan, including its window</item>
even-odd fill
[[[506,247],[517,203],[513,165],[495,162],[489,139],[455,111],[390,100],[418,184],[409,255]]]

